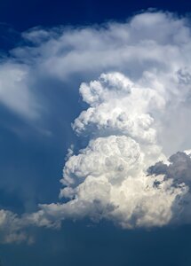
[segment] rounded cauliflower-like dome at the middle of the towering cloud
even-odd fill
[[[139,145],[130,137],[99,137],[92,140],[79,155],[68,159],[62,182],[76,185],[87,176],[104,175],[111,183],[120,183],[120,176],[123,178],[124,172],[136,171],[141,157]]]

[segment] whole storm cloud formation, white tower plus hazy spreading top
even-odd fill
[[[191,147],[189,20],[144,12],[124,23],[34,28],[23,38],[28,45],[11,55],[28,79],[85,81],[80,94],[88,108],[72,127],[89,143],[77,154],[70,150],[59,203],[21,217],[2,210],[4,221],[12,220],[10,239],[26,239],[20,233],[29,225],[58,227],[68,218],[107,219],[123,228],[190,223],[191,159],[182,152]],[[38,99],[28,79],[23,93]],[[15,112],[38,110],[33,100],[21,110],[7,97],[2,102]]]

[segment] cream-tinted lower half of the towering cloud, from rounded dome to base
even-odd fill
[[[66,163],[63,182],[68,187],[60,194],[71,200],[53,207],[61,210],[62,218],[106,218],[124,228],[169,223],[174,200],[187,188],[173,187],[163,176],[157,177],[162,184],[156,187],[155,178],[142,171],[141,155],[130,137],[97,138]],[[48,213],[50,209],[52,206],[44,208]]]

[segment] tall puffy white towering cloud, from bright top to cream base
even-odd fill
[[[105,218],[124,228],[171,223],[188,186],[184,178],[176,181],[176,172],[167,178],[151,167],[166,161],[157,132],[163,122],[158,114],[166,109],[164,96],[169,92],[143,87],[119,73],[101,74],[98,81],[83,83],[80,92],[90,108],[73,128],[91,140],[65,164],[60,197],[68,202],[42,206],[44,212],[59,219]],[[180,157],[177,160],[181,164]],[[164,162],[156,165],[173,168]]]

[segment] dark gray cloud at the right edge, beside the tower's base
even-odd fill
[[[187,193],[183,197],[177,197],[171,206],[172,218],[171,223],[190,223],[191,222],[191,153],[175,153],[171,155],[167,164],[163,161],[155,163],[147,169],[148,175],[163,175],[164,180],[172,180],[172,186],[187,186]],[[155,179],[155,186],[160,188],[162,183]]]

